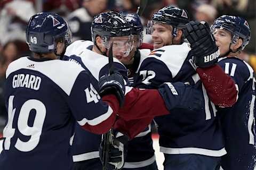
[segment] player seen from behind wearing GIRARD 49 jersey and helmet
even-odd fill
[[[58,60],[71,35],[57,14],[33,15],[26,38],[35,56],[21,57],[6,71],[8,121],[0,169],[70,170],[75,122],[92,133],[106,133],[124,100],[123,78],[115,73],[101,81],[100,91],[109,94],[102,99],[94,90],[98,83],[87,71]],[[93,91],[96,98],[91,100],[86,91]]]

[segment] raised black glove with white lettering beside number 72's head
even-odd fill
[[[183,29],[183,36],[191,45],[196,66],[209,67],[218,62],[220,50],[207,22],[190,21]]]

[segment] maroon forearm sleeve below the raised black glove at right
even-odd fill
[[[235,82],[220,65],[197,68],[196,71],[214,105],[231,107],[236,103],[238,91]]]

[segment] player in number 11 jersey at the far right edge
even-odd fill
[[[236,104],[218,109],[227,154],[221,158],[225,170],[255,169],[255,78],[252,67],[237,55],[251,39],[247,21],[239,16],[222,15],[214,21],[212,33],[220,49],[218,64],[239,90]]]

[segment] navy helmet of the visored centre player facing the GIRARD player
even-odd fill
[[[96,44],[96,37],[122,37],[131,35],[131,25],[123,15],[111,11],[94,16],[92,21],[92,40]]]

